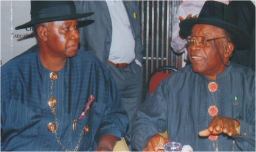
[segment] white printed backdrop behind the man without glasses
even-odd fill
[[[1,1],[1,65],[36,44],[35,38],[20,38],[29,37],[32,29],[15,30],[29,21],[30,1]]]

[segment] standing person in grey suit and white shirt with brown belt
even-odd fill
[[[79,28],[80,49],[96,55],[112,72],[132,120],[141,104],[143,46],[138,1],[74,1],[77,13],[94,12],[93,24]]]

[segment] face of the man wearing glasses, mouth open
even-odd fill
[[[196,24],[191,30],[191,36],[204,36],[207,40],[212,38],[225,37],[224,30],[207,24]],[[218,47],[219,54],[224,58],[222,54],[223,41],[226,39],[215,40]],[[216,75],[226,68],[219,57],[218,50],[214,41],[208,41],[207,46],[199,47],[197,43],[190,44],[188,46],[188,57],[190,58],[192,68],[194,72],[201,75],[205,75],[210,80],[215,80]]]

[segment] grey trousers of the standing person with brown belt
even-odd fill
[[[127,128],[127,135],[129,137],[126,137],[126,140],[128,140],[127,145],[131,151],[132,148],[129,142],[131,142],[130,133],[132,131],[132,121],[137,113],[138,106],[141,105],[143,85],[142,69],[135,61],[132,61],[132,63],[125,68],[115,67],[112,64],[108,64],[107,68],[116,81],[124,108],[129,116],[129,126]]]

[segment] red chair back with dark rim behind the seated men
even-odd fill
[[[147,96],[151,95],[155,91],[160,81],[162,81],[164,78],[172,74],[172,72],[168,74],[163,72],[166,70],[170,70],[174,72],[178,71],[176,67],[172,67],[172,66],[162,66],[162,67],[159,67],[158,69],[155,69],[155,71],[153,71],[152,74],[149,75],[149,79],[147,82]]]

